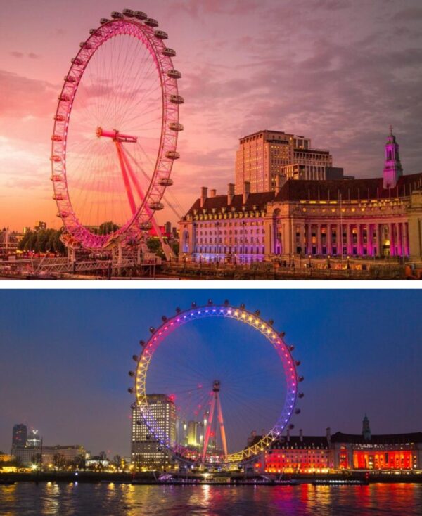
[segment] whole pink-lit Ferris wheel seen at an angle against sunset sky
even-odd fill
[[[51,136],[65,243],[90,250],[139,241],[156,225],[183,130],[167,33],[130,9],[100,24],[72,58]]]

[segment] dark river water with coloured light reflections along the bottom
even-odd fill
[[[1,516],[336,516],[422,514],[422,484],[370,486],[0,486]]]

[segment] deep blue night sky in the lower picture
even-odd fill
[[[13,424],[26,423],[40,430],[45,444],[83,444],[93,453],[128,455],[127,371],[134,368],[131,356],[139,352],[139,339],[148,337],[162,314],[170,316],[192,300],[205,304],[209,297],[260,309],[264,319],[274,319],[274,327],[286,331],[286,342],[295,344],[305,399],[293,432],[324,434],[329,426],[332,432],[358,433],[364,413],[375,434],[422,431],[418,290],[3,290],[0,450],[10,450]],[[233,370],[239,372],[242,393],[226,400],[227,418],[234,414],[232,432],[245,413],[256,410],[263,420],[272,418],[279,402],[271,392],[274,368],[260,375],[252,337],[209,324],[186,332],[180,335],[183,345],[198,340],[204,353],[209,351],[203,360],[207,373],[214,374],[217,363],[211,356],[224,356],[223,351],[231,378]],[[262,363],[271,363],[271,351],[260,354]],[[199,351],[193,355],[200,364]],[[169,368],[173,360],[171,353],[159,359],[157,354],[158,369]],[[249,371],[254,389],[244,380]],[[253,428],[248,421],[239,429],[241,441],[261,424]]]

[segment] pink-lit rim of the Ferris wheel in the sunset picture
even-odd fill
[[[170,72],[174,70],[172,58],[165,51],[167,49],[162,37],[156,33],[165,34],[162,31],[154,31],[141,20],[124,18],[108,20],[98,27],[80,45],[77,56],[72,59],[72,64],[65,75],[63,88],[58,97],[56,115],[54,116],[53,135],[51,136],[51,181],[53,182],[53,199],[58,207],[58,217],[63,221],[66,230],[68,245],[81,245],[93,250],[104,250],[113,247],[119,242],[127,243],[136,240],[141,235],[141,224],[148,222],[153,217],[150,206],[160,209],[162,195],[166,186],[170,186],[170,174],[174,156],[177,153],[178,131],[171,127],[181,127],[179,124],[179,103],[171,99],[179,99],[177,78]],[[98,235],[82,224],[78,214],[72,207],[71,192],[68,186],[68,169],[66,167],[66,150],[68,126],[72,120],[72,105],[77,94],[79,83],[87,70],[89,61],[103,44],[113,37],[121,34],[135,36],[141,44],[148,49],[151,58],[155,62],[156,72],[160,79],[161,88],[161,131],[160,143],[153,174],[149,181],[148,189],[143,202],[137,207],[136,212],[129,217],[117,231],[111,231],[106,235]],[[165,34],[167,36],[167,34]],[[173,51],[173,55],[175,55]],[[177,72],[179,74],[179,72]],[[176,74],[177,75],[177,74]],[[180,74],[179,74],[180,76]],[[175,125],[173,125],[175,124]],[[169,157],[171,155],[171,157]]]

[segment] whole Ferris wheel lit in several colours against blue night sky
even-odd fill
[[[217,340],[225,335],[228,342],[219,347],[212,343],[196,353],[202,335],[198,328],[185,328],[196,321],[206,321],[205,332]],[[220,335],[216,321],[224,323]],[[132,408],[139,410],[137,424],[146,425],[159,449],[167,448],[175,461],[192,467],[230,467],[254,460],[281,438],[283,430],[293,428],[290,418],[300,413],[296,402],[303,397],[298,392],[303,380],[297,371],[300,361],[293,359],[293,346],[286,344],[284,333],[274,330],[273,324],[244,304],[234,307],[228,301],[220,305],[209,300],[205,306],[192,303],[185,311],[177,308],[174,316],[162,316],[159,328],[150,328],[151,337],[140,341],[141,353],[133,356],[136,370],[129,371],[134,378],[129,392],[136,396]],[[213,351],[217,361],[212,359]],[[248,392],[249,387],[255,394]],[[157,392],[170,404],[173,420],[158,414]],[[256,396],[261,396],[260,401],[254,401]],[[260,423],[269,430],[243,446],[248,425]]]

